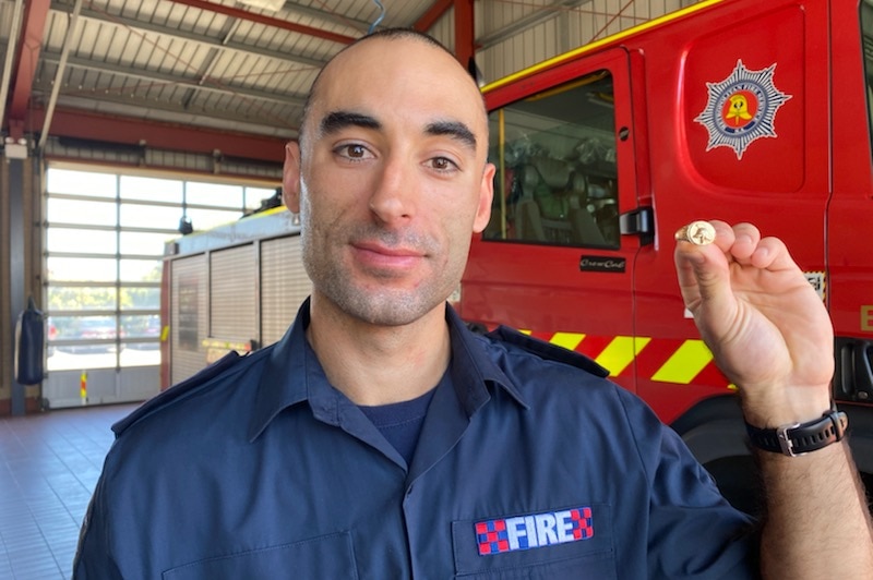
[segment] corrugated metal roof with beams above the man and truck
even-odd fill
[[[667,7],[682,0],[638,1]],[[48,135],[57,110],[56,119],[88,111],[95,119],[113,116],[294,138],[319,69],[363,36],[381,13],[374,0],[286,1],[275,12],[234,0],[0,0],[0,58],[10,51],[11,34],[27,34],[28,26],[34,34],[26,14],[15,22],[15,10],[38,4],[47,13],[27,107],[43,117],[33,116],[25,131],[39,134],[45,123]],[[412,26],[440,8],[444,16],[431,31],[451,43],[451,4],[385,2],[380,27]],[[614,2],[505,1],[489,2],[487,10],[476,2],[477,36],[497,46],[517,32],[514,27],[537,26],[583,4],[602,14],[609,12],[605,4]],[[16,63],[24,63],[25,50],[15,56]],[[506,62],[512,67],[515,59]],[[5,69],[7,77],[13,74]],[[4,81],[2,88],[13,84]],[[0,111],[3,128],[7,117]]]

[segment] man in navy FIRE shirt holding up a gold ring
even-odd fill
[[[861,578],[845,442],[761,451],[755,532],[587,359],[445,305],[489,219],[481,96],[409,31],[340,52],[287,146],[313,292],[288,334],[113,428],[75,578]],[[685,302],[762,428],[829,409],[830,327],[750,225],[680,241]],[[758,559],[760,546],[760,564]]]

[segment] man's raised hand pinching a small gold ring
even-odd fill
[[[710,222],[711,244],[677,242],[685,305],[746,421],[778,426],[829,407],[833,327],[821,298],[777,238],[751,223]]]

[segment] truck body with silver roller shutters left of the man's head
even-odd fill
[[[312,288],[299,233],[297,217],[277,207],[167,244],[162,389],[231,350],[244,354],[282,338]]]

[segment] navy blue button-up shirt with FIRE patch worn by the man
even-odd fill
[[[333,388],[309,305],[113,426],[74,578],[755,578],[749,519],[595,363],[447,307],[407,462]]]

